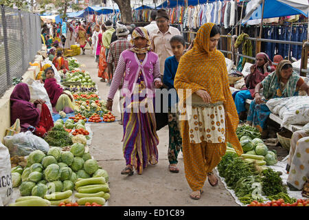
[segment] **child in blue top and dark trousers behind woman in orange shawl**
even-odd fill
[[[183,52],[185,51],[185,39],[182,36],[176,35],[170,39],[170,45],[174,56],[170,56],[165,60],[163,83],[168,87],[169,94],[176,95],[176,89],[174,87],[174,78],[177,72],[177,67]],[[181,133],[179,130],[179,115],[176,112],[176,100],[173,100],[177,96],[168,97],[168,130],[169,130],[169,144],[168,144],[168,162],[170,162],[169,170],[172,173],[179,173],[177,168],[177,157],[179,151],[181,151]]]

